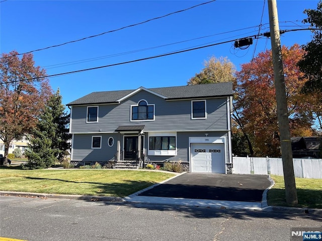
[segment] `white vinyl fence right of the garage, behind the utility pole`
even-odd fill
[[[282,158],[233,157],[234,174],[273,174],[283,176]],[[322,159],[293,158],[295,177],[322,179]]]

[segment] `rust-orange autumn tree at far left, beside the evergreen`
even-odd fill
[[[46,72],[35,66],[32,54],[21,59],[17,51],[0,57],[0,139],[5,158],[11,142],[36,126],[37,116],[51,95]],[[5,161],[6,162],[6,161]]]

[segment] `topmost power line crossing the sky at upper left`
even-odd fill
[[[126,29],[126,28],[130,28],[130,27],[137,26],[137,25],[145,24],[145,23],[148,23],[148,22],[153,21],[153,20],[162,19],[162,18],[171,16],[171,15],[174,15],[174,14],[182,13],[182,12],[185,12],[185,11],[188,11],[188,10],[191,10],[191,9],[194,9],[194,8],[199,7],[199,6],[206,5],[206,4],[215,2],[215,1],[216,0],[211,0],[209,2],[202,3],[202,4],[198,4],[198,5],[192,6],[192,7],[187,8],[187,9],[179,10],[179,11],[176,11],[176,12],[173,12],[173,13],[170,13],[170,14],[166,14],[164,16],[160,16],[160,17],[156,17],[156,18],[153,18],[153,19],[149,19],[149,20],[146,20],[146,21],[143,21],[143,22],[140,22],[140,23],[128,25],[128,26],[125,26],[125,27],[122,27],[122,28],[119,28],[119,29],[110,30],[110,31],[107,31],[107,32],[104,32],[104,33],[92,35],[92,36],[85,37],[85,38],[82,38],[82,39],[77,39],[77,40],[65,42],[65,43],[62,43],[62,44],[52,45],[52,46],[49,46],[49,47],[45,47],[45,48],[41,48],[41,49],[36,49],[36,50],[32,50],[32,51],[29,51],[29,52],[25,52],[25,53],[21,53],[21,54],[16,54],[16,55],[12,55],[12,56],[23,55],[23,54],[30,54],[30,53],[33,53],[33,52],[36,52],[36,51],[41,51],[41,50],[45,50],[45,49],[55,48],[55,47],[59,47],[59,46],[62,46],[62,45],[66,45],[66,44],[70,44],[70,43],[75,43],[75,42],[83,41],[83,40],[90,39],[90,38],[95,38],[95,37],[98,37],[98,36],[101,36],[101,35],[104,35],[104,34],[113,33],[113,32],[116,32],[116,31],[120,31],[122,29]],[[2,57],[2,58],[8,58],[8,57]]]

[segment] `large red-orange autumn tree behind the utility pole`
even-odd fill
[[[306,79],[297,67],[303,54],[304,50],[297,44],[282,47],[291,136],[313,134],[313,116],[305,101],[307,95],[301,92]],[[250,149],[255,156],[280,156],[271,51],[261,52],[250,63],[241,65],[236,77],[234,116],[243,132],[252,137]]]

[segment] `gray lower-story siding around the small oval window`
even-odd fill
[[[92,149],[92,136],[102,136],[101,149]],[[113,137],[114,145],[108,145],[108,139]],[[114,157],[117,151],[118,134],[74,134],[72,146],[72,161],[105,162]]]

